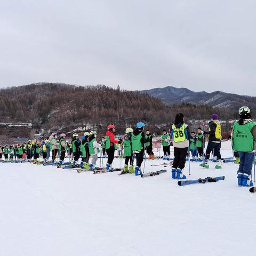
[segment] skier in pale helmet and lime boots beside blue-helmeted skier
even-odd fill
[[[126,128],[125,134],[124,134],[124,156],[125,156],[125,161],[124,161],[124,173],[135,173],[134,166],[133,166],[133,151],[132,151],[132,133],[133,129],[132,128]],[[130,161],[130,167],[128,167]]]

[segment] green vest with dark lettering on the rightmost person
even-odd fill
[[[256,123],[250,122],[244,125],[239,125],[237,122],[233,125],[232,146],[233,150],[238,152],[251,152],[254,150],[254,137],[252,129]]]

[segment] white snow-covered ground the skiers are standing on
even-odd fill
[[[0,163],[0,255],[255,255],[256,195],[237,187],[237,165],[198,165],[189,179],[226,179],[179,187],[171,167],[141,178]]]

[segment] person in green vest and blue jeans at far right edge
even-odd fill
[[[252,121],[250,108],[239,108],[239,121],[232,127],[232,148],[240,158],[237,171],[238,186],[251,187],[252,165],[255,161],[256,123]]]

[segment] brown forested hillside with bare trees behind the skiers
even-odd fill
[[[189,103],[166,106],[161,99],[140,92],[120,91],[104,85],[74,86],[37,83],[0,90],[2,122],[30,122],[46,130],[63,130],[86,125],[133,126],[138,121],[151,127],[170,125],[176,113],[186,119],[209,119],[216,112],[221,119],[235,117],[228,108]]]

